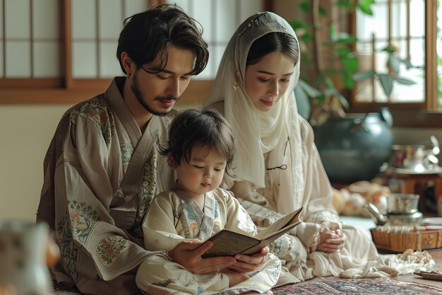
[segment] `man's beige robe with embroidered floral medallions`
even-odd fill
[[[123,84],[117,77],[105,93],[68,110],[44,159],[37,221],[56,232],[61,263],[52,271],[85,294],[138,291],[136,268],[150,255],[141,222],[153,197],[174,182],[155,149],[174,112],[154,116],[142,134]]]

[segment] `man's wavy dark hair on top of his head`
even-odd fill
[[[157,54],[161,54],[160,64],[148,69],[152,73],[159,73],[165,69],[167,52],[169,46],[173,45],[195,53],[195,64],[189,74],[197,75],[203,71],[209,58],[208,45],[202,34],[201,24],[178,6],[155,6],[124,20],[124,28],[118,40],[117,59],[126,73],[121,64],[122,52],[129,54],[137,68],[153,62]]]

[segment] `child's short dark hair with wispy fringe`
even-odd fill
[[[225,172],[232,173],[232,162],[235,154],[235,140],[229,122],[214,109],[184,110],[180,112],[169,126],[167,147],[159,145],[162,156],[172,155],[173,161],[189,163],[192,149],[196,146],[207,151],[216,151],[227,161]]]

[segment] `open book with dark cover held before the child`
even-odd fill
[[[234,256],[236,254],[251,255],[257,253],[284,233],[293,229],[294,226],[300,224],[299,215],[301,211],[302,207],[290,214],[282,216],[280,219],[277,219],[275,223],[267,226],[255,236],[223,229],[208,239],[208,241],[213,241],[213,247],[207,250],[202,257]]]

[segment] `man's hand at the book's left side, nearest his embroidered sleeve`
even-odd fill
[[[186,267],[194,274],[207,274],[209,272],[220,272],[226,267],[234,265],[237,260],[229,256],[201,258],[210,247],[211,241],[203,242],[181,242],[169,251],[169,257],[173,262]]]

